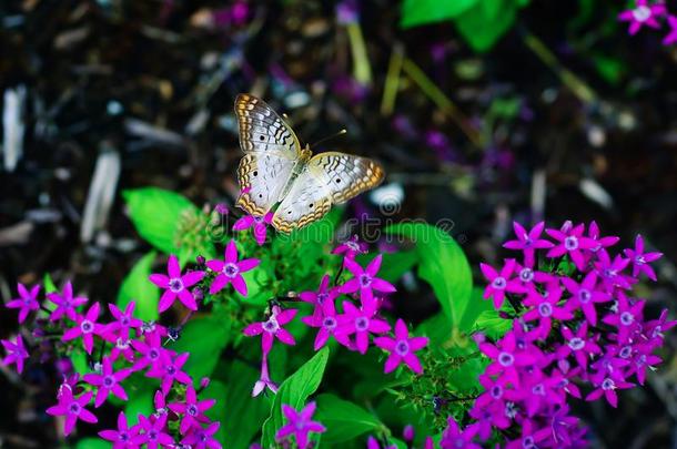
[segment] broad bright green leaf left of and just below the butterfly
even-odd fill
[[[122,196],[141,237],[165,254],[179,254],[182,215],[198,214],[198,207],[183,195],[156,187],[124,191]]]

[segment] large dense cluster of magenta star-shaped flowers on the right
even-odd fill
[[[484,392],[465,430],[449,421],[443,448],[445,441],[478,447],[471,442],[486,441],[495,429],[513,436],[507,448],[584,445],[585,428],[569,415],[569,397],[604,397],[616,407],[617,391],[644,385],[647,370],[660,363],[654,351],[677,324],[667,320],[667,310],[647,319],[645,300],[631,296],[640,276],[656,279],[650,263],[661,256],[647,252],[641,236],[614,255],[619,239],[602,236],[595,222],[587,229],[570,222],[514,228],[517,238],[504,246],[522,257],[499,268],[481,266],[485,298],[513,314],[513,326],[495,343],[476,336],[491,361],[479,377]]]

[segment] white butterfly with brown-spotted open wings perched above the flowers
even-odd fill
[[[313,155],[265,102],[242,93],[235,99],[240,146],[238,167],[241,194],[236,205],[254,217],[264,217],[276,204],[275,229],[290,233],[378,185],[383,167],[366,157],[338,152]]]

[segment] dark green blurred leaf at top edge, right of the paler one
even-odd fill
[[[481,0],[454,21],[473,50],[484,52],[511,29],[516,17],[515,0]]]

